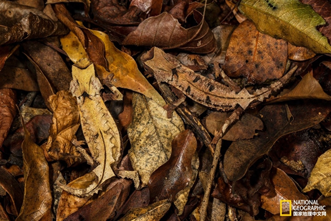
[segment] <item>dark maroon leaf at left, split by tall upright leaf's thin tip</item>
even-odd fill
[[[47,139],[49,128],[52,123],[52,115],[37,115],[26,123],[26,128],[30,133],[33,142],[40,143]],[[24,140],[24,129],[20,128],[14,134],[9,135],[4,141],[4,145],[16,156],[22,156],[22,142]]]

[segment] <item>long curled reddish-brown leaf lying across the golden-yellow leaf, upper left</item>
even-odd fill
[[[105,44],[102,40],[91,33],[90,30],[79,26],[73,18],[71,18],[71,15],[62,3],[54,4],[53,9],[58,19],[78,37],[83,47],[86,48],[85,50],[89,59],[93,63],[101,65],[108,70],[108,61],[105,58]]]

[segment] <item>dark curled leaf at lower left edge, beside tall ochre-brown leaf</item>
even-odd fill
[[[13,207],[11,211],[17,216],[23,203],[23,191],[15,178],[1,167],[0,186],[9,194],[11,203],[13,204],[13,206],[11,206]]]

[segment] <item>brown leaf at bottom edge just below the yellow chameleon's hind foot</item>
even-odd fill
[[[82,219],[85,221],[105,221],[112,219],[129,195],[131,183],[131,181],[124,179],[115,181],[113,187],[98,199],[81,207],[64,219],[64,221]]]

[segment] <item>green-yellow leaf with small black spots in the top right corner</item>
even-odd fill
[[[242,0],[238,8],[264,34],[315,53],[331,53],[327,38],[316,30],[325,21],[310,5],[298,0]]]

